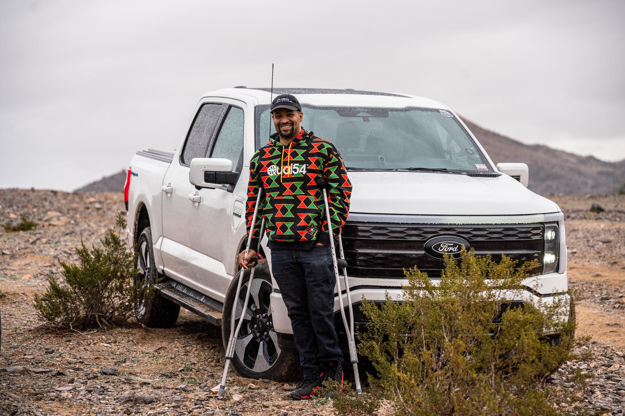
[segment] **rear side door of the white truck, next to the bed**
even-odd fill
[[[191,283],[191,211],[196,208],[189,200],[196,189],[189,182],[189,163],[192,158],[204,157],[221,123],[227,105],[200,102],[187,132],[183,147],[176,152],[163,179],[163,242],[161,253],[165,274],[181,283]]]

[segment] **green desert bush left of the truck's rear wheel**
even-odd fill
[[[121,325],[134,315],[134,302],[151,296],[149,288],[134,286],[136,254],[128,251],[119,233],[126,221],[118,215],[118,230],[111,228],[102,247],[76,248],[80,264],[61,263],[65,284],[49,276],[49,288],[35,296],[35,308],[50,324],[75,329]]]

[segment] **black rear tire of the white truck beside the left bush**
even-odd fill
[[[154,249],[152,246],[152,231],[146,227],[141,231],[137,241],[138,251],[137,269],[139,273],[134,278],[134,284],[151,286],[159,274],[154,264]],[[143,302],[134,303],[134,316],[137,322],[153,328],[173,327],[178,321],[180,305],[175,304],[164,297],[153,294]]]

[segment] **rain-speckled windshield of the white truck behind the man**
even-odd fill
[[[302,111],[302,128],[332,142],[348,169],[492,172],[471,136],[447,110],[302,105]],[[257,106],[256,116],[259,146],[269,141],[269,106]]]

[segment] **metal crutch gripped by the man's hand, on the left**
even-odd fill
[[[249,227],[249,236],[247,237],[247,245],[245,247],[244,259],[247,258],[247,253],[249,252],[249,246],[252,243],[252,234],[254,234],[254,224],[256,224],[256,216],[258,214],[258,206],[261,203],[261,195],[262,188],[258,190],[258,196],[256,198],[256,205],[254,206],[254,215],[252,215],[252,224]],[[261,232],[259,234],[260,239],[262,239],[262,231],[265,226],[265,219],[262,218],[261,221]],[[260,240],[259,240],[260,244]],[[249,263],[254,261],[254,267],[252,267],[252,271],[249,273],[249,281],[247,282],[247,292],[245,294],[245,301],[243,302],[243,307],[241,309],[241,319],[239,319],[239,324],[236,327],[236,331],[234,329],[234,320],[236,318],[236,306],[237,301],[239,300],[239,293],[241,293],[241,282],[243,281],[243,271],[241,269],[241,274],[239,275],[239,281],[236,286],[236,294],[234,295],[234,303],[232,304],[232,316],[230,317],[230,337],[228,339],[228,346],[226,348],[226,365],[224,365],[224,374],[221,375],[221,384],[219,385],[219,392],[217,395],[221,396],[221,394],[226,390],[226,377],[228,375],[228,367],[230,367],[231,360],[234,359],[234,344],[236,344],[236,337],[239,336],[239,331],[241,331],[241,326],[243,324],[243,315],[245,314],[245,309],[247,308],[247,302],[249,301],[249,293],[252,291],[252,280],[254,279],[254,271],[256,271],[256,263],[258,261],[257,257],[250,259]],[[249,264],[248,263],[248,264]]]

